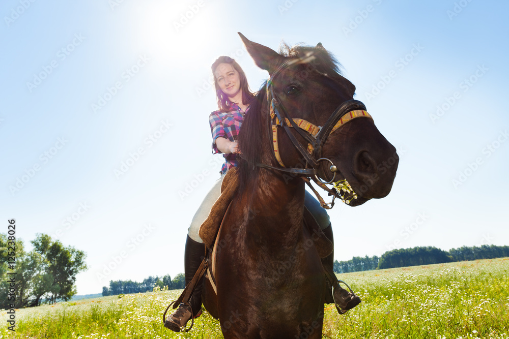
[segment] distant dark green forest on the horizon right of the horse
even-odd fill
[[[377,256],[353,257],[348,261],[334,261],[334,272],[348,273],[393,267],[440,264],[477,259],[509,257],[509,246],[482,245],[463,246],[459,249],[443,251],[436,247],[414,247],[385,252]]]

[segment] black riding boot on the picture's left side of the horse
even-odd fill
[[[196,242],[187,236],[186,249],[184,253],[184,275],[186,279],[186,286],[192,280],[194,273],[200,267],[205,255],[205,244]],[[192,307],[192,315],[194,318],[200,317],[202,314],[202,289],[203,277],[196,283],[196,287],[189,298],[189,304]],[[186,326],[187,322],[191,320],[191,309],[188,305],[181,303],[178,309],[166,318],[164,326],[175,332]]]

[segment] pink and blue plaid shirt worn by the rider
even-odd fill
[[[246,112],[249,108],[246,109]],[[214,111],[210,113],[209,123],[210,131],[212,132],[212,153],[221,153],[217,149],[216,139],[219,137],[226,138],[230,141],[236,141],[239,135],[240,125],[244,121],[244,112],[237,104],[232,104],[232,111],[224,113],[221,111]],[[233,153],[223,154],[225,163],[221,167],[221,173],[226,173],[232,167],[237,166],[237,155]]]

